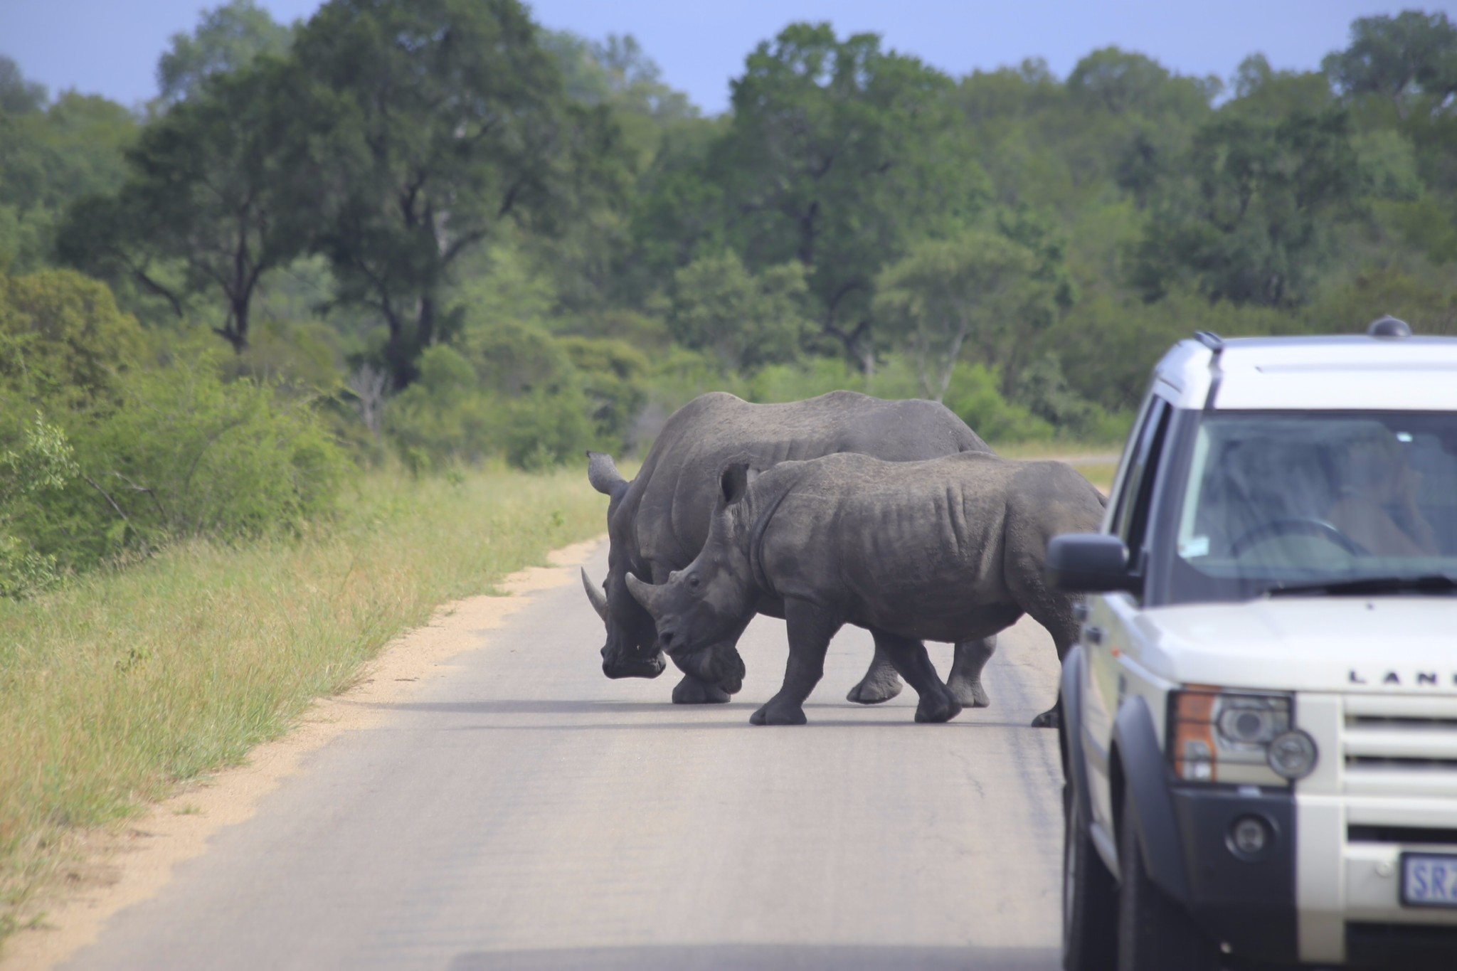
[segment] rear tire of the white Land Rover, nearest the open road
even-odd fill
[[[1062,967],[1118,967],[1118,884],[1088,836],[1085,796],[1071,782],[1062,795]]]

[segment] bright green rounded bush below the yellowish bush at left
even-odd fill
[[[334,508],[348,467],[309,402],[224,383],[213,360],[128,374],[114,411],[67,421],[79,473],[25,533],[73,569],[175,537],[299,531]]]

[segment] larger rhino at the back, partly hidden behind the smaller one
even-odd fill
[[[603,674],[653,678],[663,673],[653,619],[631,597],[625,579],[660,584],[698,556],[708,539],[718,473],[727,464],[762,470],[785,460],[839,451],[908,461],[991,450],[966,422],[934,402],[889,402],[832,392],[803,402],[750,405],[715,392],[694,399],[669,418],[631,482],[618,473],[610,457],[587,453],[587,477],[610,498],[608,578],[599,588],[586,571],[581,574],[587,597],[608,627]],[[784,604],[772,592],[753,600],[750,607],[750,613],[784,616]],[[743,661],[734,649],[739,633],[724,630],[705,649],[675,657],[685,677],[673,689],[673,702],[727,702],[740,689]],[[962,705],[989,703],[981,674],[994,649],[994,638],[957,643],[947,684]],[[900,678],[877,648],[865,677],[847,697],[873,705],[899,691]]]

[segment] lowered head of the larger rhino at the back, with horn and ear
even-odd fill
[[[587,600],[608,627],[608,642],[602,646],[602,673],[609,678],[656,678],[667,667],[657,649],[657,629],[653,617],[628,592],[631,523],[615,515],[631,485],[618,472],[610,456],[589,451],[587,479],[592,488],[606,495],[608,502],[608,579],[596,587],[581,571]],[[635,579],[635,578],[634,578]]]

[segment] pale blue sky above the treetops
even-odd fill
[[[220,0],[0,0],[0,54],[52,92],[76,87],[124,105],[156,95],[168,39]],[[307,17],[319,0],[259,0],[274,19]],[[599,39],[632,33],[664,80],[712,114],[745,55],[793,20],[886,45],[950,74],[1046,58],[1065,77],[1100,47],[1139,51],[1182,74],[1228,79],[1249,54],[1311,70],[1346,45],[1351,22],[1403,7],[1457,17],[1457,0],[535,0],[536,19]]]

